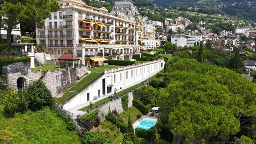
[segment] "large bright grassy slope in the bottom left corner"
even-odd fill
[[[80,144],[76,132],[66,130],[66,126],[49,108],[5,118],[0,105],[0,144]]]

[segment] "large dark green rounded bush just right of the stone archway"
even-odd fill
[[[54,107],[52,94],[42,80],[39,79],[30,83],[27,91],[30,94],[28,107],[31,110],[40,110],[44,106]]]

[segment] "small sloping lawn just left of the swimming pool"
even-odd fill
[[[140,110],[135,108],[134,106],[130,107],[128,110],[125,110],[124,112],[120,113],[119,116],[123,118],[124,123],[128,123],[128,117],[130,115],[130,118],[132,120],[132,123],[134,123],[138,118],[137,114],[142,114]]]

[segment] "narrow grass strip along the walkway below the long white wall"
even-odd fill
[[[134,86],[131,86],[130,88],[126,88],[125,90],[122,90],[120,92],[117,92],[116,93],[116,96],[121,96],[122,94],[125,94],[126,92],[129,92],[130,90],[132,90],[133,88],[137,87],[137,86],[140,86],[140,83],[139,84],[135,84]],[[116,96],[114,97],[114,99],[116,99]],[[102,100],[99,100],[98,102],[94,102],[92,104],[92,108],[90,108],[90,106],[86,106],[84,108],[81,108],[80,110],[82,111],[86,111],[86,110],[93,110],[96,108],[96,106],[101,106],[104,102],[109,102],[110,101],[110,98],[109,97],[106,97],[106,98],[103,98]]]

